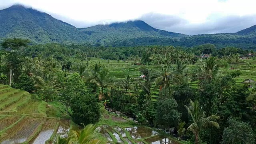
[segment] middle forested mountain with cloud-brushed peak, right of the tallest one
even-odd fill
[[[126,42],[134,38],[174,38],[178,40],[178,38],[187,36],[185,34],[158,30],[141,20],[80,28],[80,31],[89,35],[86,39],[89,42],[105,46],[113,45],[116,42]],[[128,45],[133,44],[130,43]]]

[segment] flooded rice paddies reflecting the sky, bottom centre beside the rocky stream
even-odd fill
[[[104,119],[112,122],[111,117],[115,116],[108,115],[108,118],[104,116]],[[180,144],[178,140],[164,137],[151,128],[145,126],[128,126],[128,121],[114,122],[118,122],[118,125],[102,124],[98,127],[100,133],[111,144]],[[166,143],[162,141],[163,139],[166,140]]]

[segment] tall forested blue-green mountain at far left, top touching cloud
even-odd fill
[[[32,42],[82,42],[86,35],[44,12],[14,5],[0,10],[0,37],[28,38]]]

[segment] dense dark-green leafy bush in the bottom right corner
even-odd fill
[[[222,144],[254,144],[255,135],[250,124],[228,118],[229,126],[224,128]]]

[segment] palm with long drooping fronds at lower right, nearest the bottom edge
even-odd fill
[[[196,138],[196,144],[199,144],[199,135],[203,128],[220,128],[219,124],[217,122],[214,122],[215,120],[219,119],[219,116],[212,115],[206,117],[206,112],[203,111],[202,107],[200,107],[198,101],[193,102],[190,100],[190,105],[186,106],[188,110],[188,115],[192,118],[192,124],[188,126],[188,130],[192,131]]]

